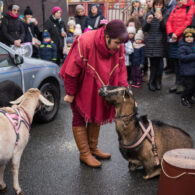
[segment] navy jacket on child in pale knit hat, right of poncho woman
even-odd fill
[[[134,46],[134,53],[133,53],[133,59],[132,59],[132,65],[133,66],[140,66],[141,64],[144,64],[144,44],[133,44]]]

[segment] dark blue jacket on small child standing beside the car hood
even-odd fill
[[[39,57],[43,60],[56,62],[57,48],[53,41],[50,43],[42,42],[39,47]]]

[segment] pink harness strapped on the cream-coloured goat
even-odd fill
[[[22,108],[22,107],[20,107]],[[18,141],[20,139],[19,136],[19,129],[20,129],[20,125],[23,122],[24,125],[26,126],[26,128],[30,131],[30,117],[27,114],[27,112],[22,108],[22,110],[24,111],[28,121],[25,120],[24,117],[21,116],[20,111],[18,109],[14,109],[15,110],[15,114],[9,114],[6,110],[0,110],[1,113],[3,113],[9,120],[9,122],[12,124],[14,131],[16,133],[16,145],[18,144]]]

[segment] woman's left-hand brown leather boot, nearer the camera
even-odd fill
[[[90,167],[100,167],[102,164],[90,152],[86,127],[73,127],[74,139],[80,151],[80,160]]]

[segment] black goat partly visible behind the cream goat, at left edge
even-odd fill
[[[22,94],[20,86],[13,81],[0,82],[0,107],[11,106],[10,101],[19,98]]]

